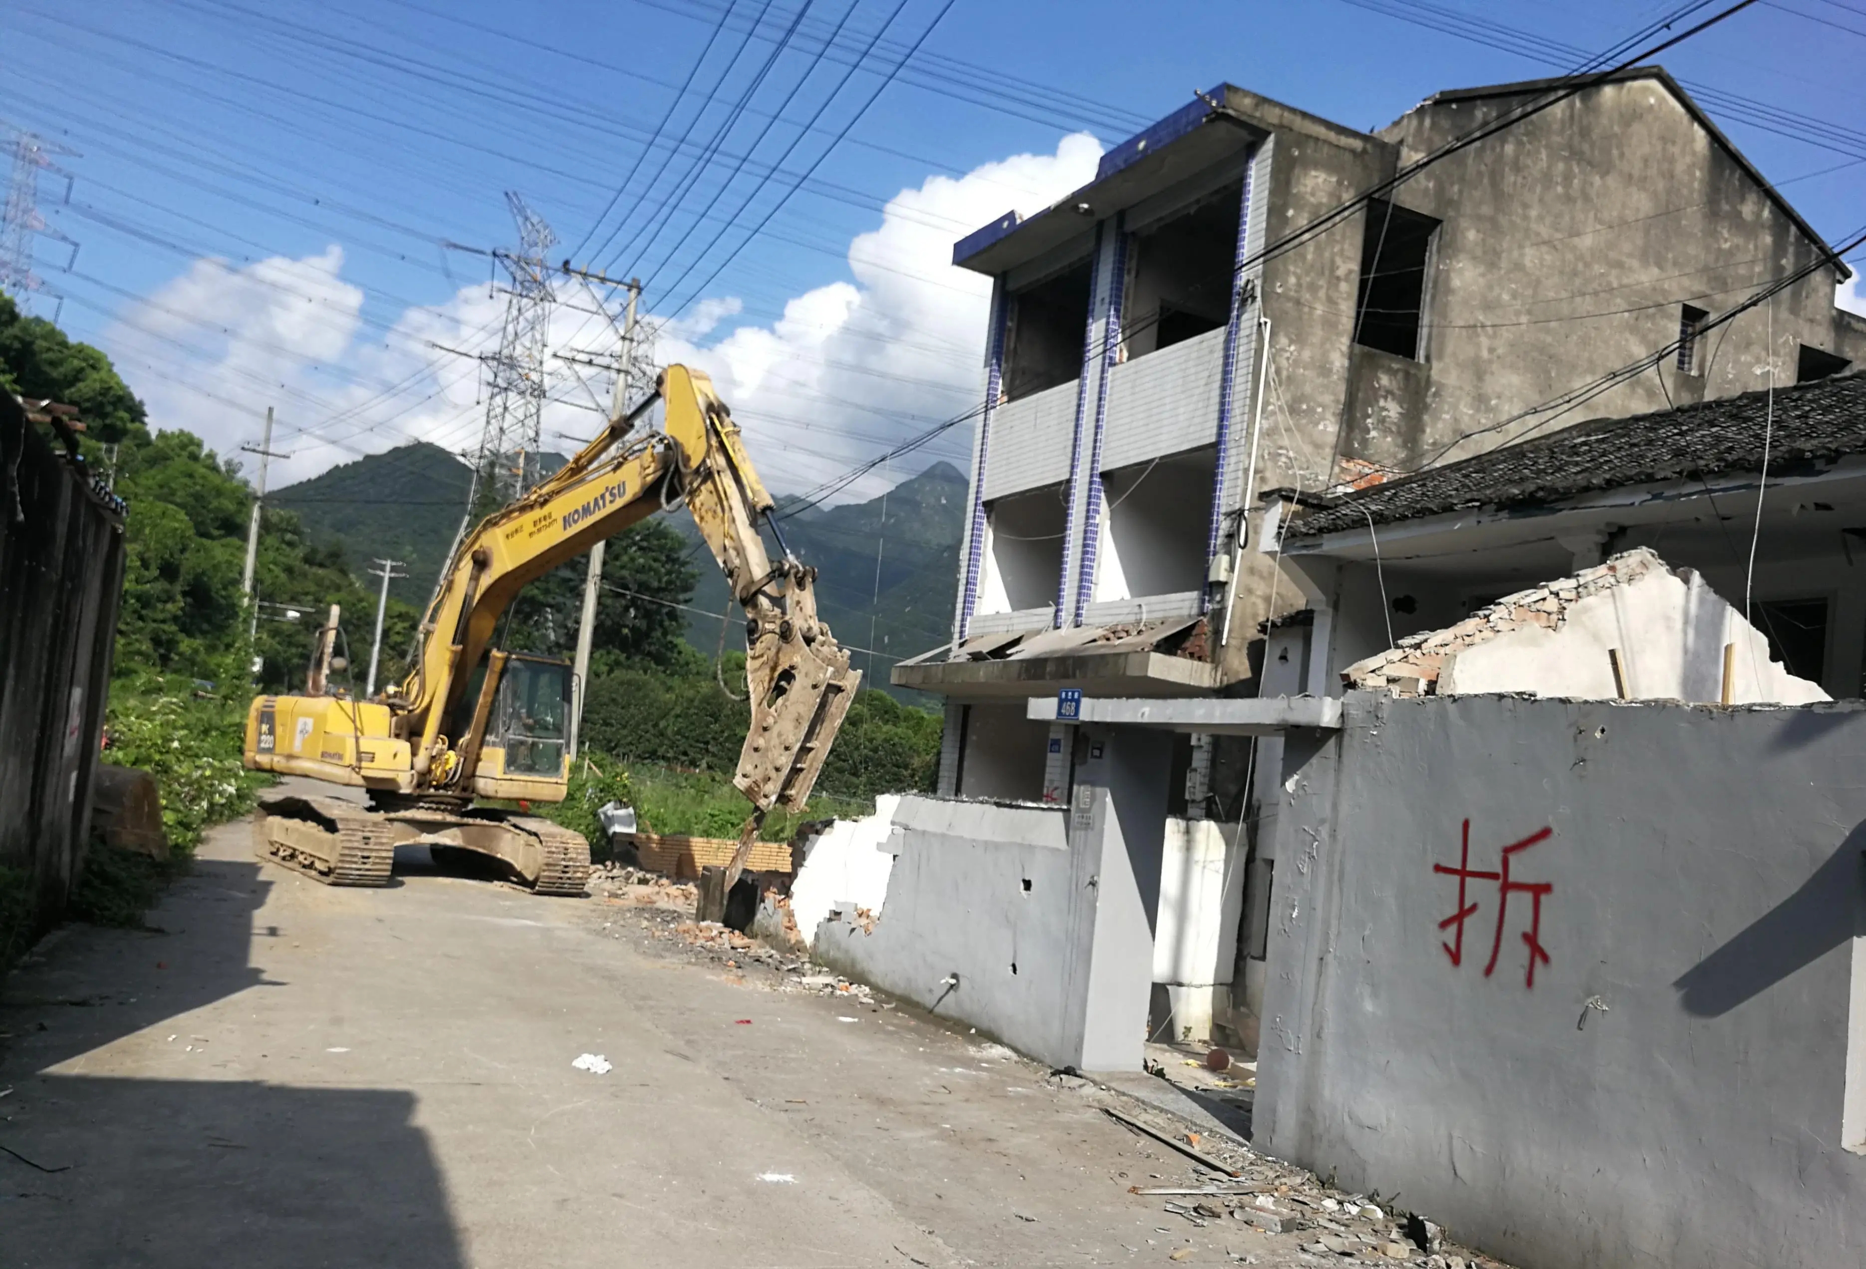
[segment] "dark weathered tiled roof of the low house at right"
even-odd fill
[[[1769,474],[1866,452],[1866,373],[1681,405],[1633,418],[1595,418],[1549,437],[1401,476],[1312,506],[1291,537],[1442,515],[1469,508],[1526,508],[1595,489],[1754,472],[1769,437]]]

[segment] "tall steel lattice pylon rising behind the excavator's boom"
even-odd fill
[[[519,226],[519,250],[496,252],[511,284],[498,353],[485,358],[485,431],[474,455],[474,480],[489,506],[511,502],[537,483],[545,429],[545,362],[550,356],[550,271],[545,252],[558,241],[545,218],[506,192]]]

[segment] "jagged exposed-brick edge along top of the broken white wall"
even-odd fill
[[[1653,569],[1670,571],[1653,551],[1638,547],[1573,577],[1519,590],[1478,608],[1457,625],[1407,634],[1398,646],[1357,661],[1342,670],[1342,683],[1351,689],[1388,690],[1394,696],[1448,694],[1450,661],[1459,651],[1530,625],[1558,631],[1571,605],[1616,586],[1629,586]]]

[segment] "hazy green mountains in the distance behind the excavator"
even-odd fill
[[[390,582],[390,593],[424,607],[461,526],[470,483],[465,463],[416,442],[332,467],[267,500],[295,511],[312,541],[343,547],[351,571],[371,588],[373,562],[399,560],[403,577]],[[894,661],[950,638],[965,495],[965,474],[933,463],[870,502],[791,509],[780,500],[784,539],[817,569],[817,612],[855,649],[855,666],[871,687],[886,687]],[[700,530],[687,515],[675,515],[674,526],[700,571],[687,638],[711,657],[720,646],[720,614],[731,607],[726,648],[743,649],[741,614]]]

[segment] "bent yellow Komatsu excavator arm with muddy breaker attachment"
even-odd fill
[[[769,523],[782,549],[773,500],[752,467],[713,383],[670,366],[657,386],[661,433],[621,444],[653,397],[459,545],[422,623],[422,655],[397,698],[397,732],[411,745],[416,789],[466,782],[478,761],[487,707],[504,666],[489,653],[494,627],[526,582],[575,560],[597,541],[655,511],[685,506],[746,616],[746,689],[752,728],[733,784],[759,810],[801,810],[842,726],[860,672],[815,610],[815,569],[784,551],[773,562],[759,537]],[[620,446],[620,452],[618,452]],[[472,724],[463,717],[472,670],[487,661]]]

